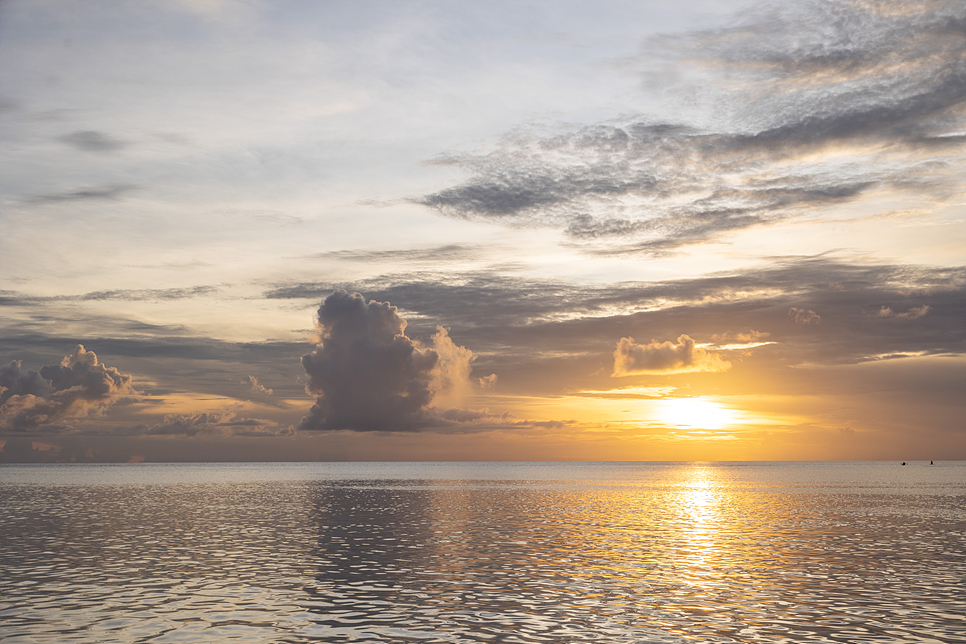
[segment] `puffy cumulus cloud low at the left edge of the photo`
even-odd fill
[[[27,430],[65,418],[101,413],[120,398],[136,394],[132,377],[97,361],[77,345],[59,365],[40,371],[19,360],[0,367],[0,427]]]

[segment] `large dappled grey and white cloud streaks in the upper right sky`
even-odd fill
[[[470,178],[414,201],[457,218],[561,228],[607,242],[603,252],[660,253],[869,191],[955,194],[964,25],[966,5],[954,0],[817,1],[661,37],[646,59],[666,68],[649,81],[701,70],[690,90],[713,106],[713,125],[630,117],[521,128],[489,154],[437,157]]]

